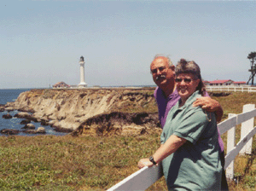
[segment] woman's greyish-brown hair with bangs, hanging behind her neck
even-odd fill
[[[199,90],[201,96],[205,96],[206,87],[201,79],[201,70],[200,67],[195,63],[195,61],[186,61],[185,59],[181,59],[177,62],[177,66],[175,67],[175,75],[177,76],[180,73],[192,73],[194,79],[200,79],[196,90]]]

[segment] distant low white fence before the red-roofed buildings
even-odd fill
[[[241,91],[241,92],[256,92],[256,87],[251,86],[235,86],[235,85],[207,85],[207,91]]]

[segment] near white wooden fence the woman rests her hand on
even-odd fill
[[[256,117],[255,105],[247,104],[243,106],[242,113],[230,113],[229,119],[218,124],[218,130],[221,135],[228,131],[224,169],[226,170],[226,177],[230,180],[234,178],[234,159],[236,155],[238,153],[252,153],[253,135],[256,134],[256,128],[253,127],[254,117]],[[238,124],[241,124],[241,139],[236,144],[236,125]],[[163,172],[160,165],[151,168],[145,166],[112,188],[109,188],[108,191],[145,190],[162,176]]]

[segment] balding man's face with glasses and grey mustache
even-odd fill
[[[159,57],[154,59],[151,63],[150,70],[154,83],[164,89],[170,82],[174,83],[174,67],[169,67],[166,57]]]

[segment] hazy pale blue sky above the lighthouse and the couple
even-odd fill
[[[0,2],[0,89],[154,84],[156,54],[195,61],[205,80],[247,81],[256,2]]]

